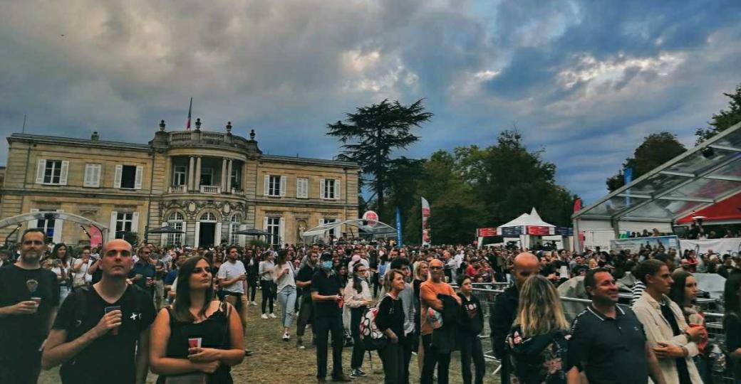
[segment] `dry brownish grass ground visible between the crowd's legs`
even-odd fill
[[[259,300],[259,292],[256,300]],[[258,301],[259,303],[259,301]],[[296,349],[296,340],[293,334],[296,331],[295,325],[291,329],[291,340],[283,342],[281,340],[282,327],[280,326],[280,313],[276,303],[277,319],[264,320],[260,317],[260,306],[250,306],[248,310],[247,335],[245,337],[245,346],[255,352],[253,356],[245,357],[245,361],[239,366],[232,369],[234,383],[249,384],[303,384],[316,383],[316,351],[312,347],[304,350]],[[295,323],[295,322],[294,322]],[[307,330],[305,340],[310,340],[311,331]],[[342,352],[342,364],[346,374],[350,374],[350,352],[351,348],[345,348]],[[331,372],[331,351],[328,356],[329,367]],[[473,367],[471,367],[473,368]],[[365,354],[363,369],[368,373],[367,377],[361,377],[353,380],[356,384],[382,383],[383,371],[381,360],[378,354],[373,353],[373,368],[368,360],[368,354]],[[487,375],[485,383],[499,383],[499,380],[491,374],[494,366],[487,366]],[[410,367],[411,383],[419,382],[419,371],[416,366],[416,356],[412,356]],[[329,377],[328,377],[329,379]],[[149,375],[147,383],[154,383],[156,376]],[[39,383],[52,384],[59,383],[59,371],[42,372]],[[453,353],[451,361],[450,383],[462,383],[460,374],[460,363],[458,352]]]

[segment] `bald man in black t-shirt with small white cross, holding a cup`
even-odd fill
[[[126,283],[133,266],[131,245],[111,240],[103,246],[103,277],[90,289],[64,300],[41,363],[62,365],[62,383],[143,384],[149,368],[152,297]]]

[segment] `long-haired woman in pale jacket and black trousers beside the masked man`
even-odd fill
[[[353,278],[345,286],[345,306],[350,309],[350,334],[353,336],[353,355],[350,358],[350,376],[362,377],[365,372],[360,369],[363,365],[363,343],[360,340],[360,319],[373,303],[371,289],[365,278],[368,276],[368,267],[362,263],[354,266]]]

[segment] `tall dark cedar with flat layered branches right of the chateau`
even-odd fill
[[[376,195],[376,208],[385,209],[385,189],[391,171],[394,149],[406,149],[419,141],[411,132],[413,127],[429,121],[432,113],[425,112],[420,99],[404,106],[388,99],[370,107],[359,107],[347,113],[345,122],[327,124],[328,135],[339,138],[342,161],[360,164],[362,172],[371,176],[371,189]]]

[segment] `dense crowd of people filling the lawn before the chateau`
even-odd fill
[[[55,366],[62,383],[144,383],[150,371],[158,383],[231,383],[230,368],[252,354],[247,308],[258,305],[262,320],[279,314],[276,342],[291,340],[295,326],[296,348],[315,350],[319,383],[366,376],[369,351],[385,383],[448,383],[453,351],[462,381],[483,383],[482,334],[502,362],[501,383],[710,383],[694,273],[728,277],[733,362],[741,357],[741,269],[737,257],[708,253],[383,243],[190,249],[124,240],[73,249],[29,229],[17,252],[0,251],[0,343],[15,346],[0,351],[0,383],[36,383],[41,368]],[[632,309],[618,305],[617,280],[628,273],[639,280]],[[573,277],[592,302],[569,323],[556,287]],[[480,283],[506,289],[482,303]],[[419,377],[410,377],[413,356]]]

